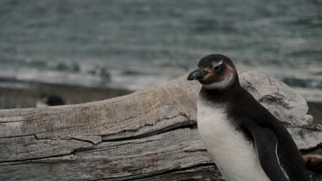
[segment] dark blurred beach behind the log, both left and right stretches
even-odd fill
[[[34,108],[41,93],[58,95],[65,104],[82,104],[100,101],[133,93],[134,90],[115,87],[85,87],[67,84],[35,82],[0,82],[0,109]],[[307,101],[308,114],[314,117],[313,123],[322,124],[322,91],[295,87],[294,90]]]

